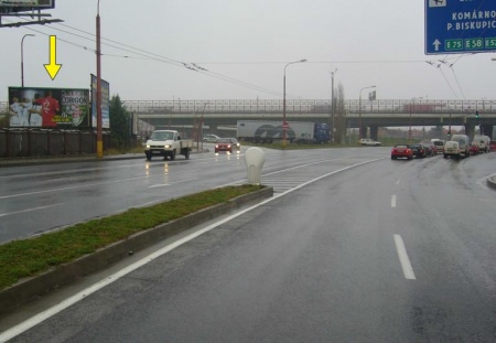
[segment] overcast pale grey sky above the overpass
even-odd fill
[[[0,29],[0,100],[21,85],[24,34],[35,34],[23,44],[25,86],[89,88],[97,0],[46,12],[64,22]],[[101,75],[123,100],[279,99],[284,65],[301,58],[287,68],[289,98],[328,99],[331,71],[347,99],[370,85],[378,99],[495,98],[493,53],[424,54],[422,0],[100,0],[99,12]],[[43,67],[50,35],[55,81]]]

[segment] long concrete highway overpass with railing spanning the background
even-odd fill
[[[193,127],[203,122],[211,132],[219,127],[235,127],[237,120],[281,120],[282,99],[273,100],[125,100],[126,108],[157,129]],[[343,116],[346,128],[362,126],[377,138],[379,127],[464,126],[473,136],[483,127],[493,137],[496,100],[287,100],[288,121],[314,121],[332,125]],[[477,116],[478,115],[478,116]]]

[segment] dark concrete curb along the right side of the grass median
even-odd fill
[[[196,213],[186,215],[176,221],[159,225],[138,233],[125,240],[101,248],[94,254],[86,255],[73,262],[58,266],[36,277],[24,279],[14,286],[0,291],[0,314],[4,314],[15,307],[48,293],[50,291],[72,282],[86,275],[101,270],[116,261],[126,258],[129,251],[139,251],[160,239],[165,239],[195,225],[211,221],[217,216],[256,203],[273,195],[272,187],[238,196],[227,203],[218,204]]]

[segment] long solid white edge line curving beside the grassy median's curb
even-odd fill
[[[367,163],[371,163],[371,162],[375,162],[375,161],[378,161],[378,160],[381,160],[381,159],[375,159],[375,160],[369,160],[369,161],[360,162],[360,163],[357,163],[357,164],[353,164],[353,165],[349,165],[349,167],[346,167],[346,168],[333,171],[333,172],[327,173],[325,175],[319,176],[316,179],[310,180],[310,181],[308,181],[305,183],[302,183],[302,184],[300,184],[300,185],[298,185],[298,186],[295,186],[295,187],[293,187],[293,189],[291,189],[291,190],[289,190],[289,191],[287,191],[284,193],[276,194],[272,197],[269,197],[269,199],[267,199],[267,200],[265,200],[265,201],[262,201],[262,202],[260,202],[258,204],[255,204],[255,205],[249,206],[249,207],[247,207],[245,210],[241,210],[238,213],[235,213],[235,214],[233,214],[233,215],[230,215],[230,216],[228,216],[228,217],[226,217],[224,219],[220,219],[220,221],[218,221],[216,223],[213,223],[213,224],[211,224],[211,225],[208,225],[208,226],[206,226],[206,227],[204,227],[202,229],[198,229],[197,232],[194,232],[191,235],[187,235],[187,236],[185,236],[185,237],[183,237],[181,239],[177,239],[176,242],[174,242],[174,243],[172,243],[172,244],[170,244],[170,245],[168,245],[168,246],[165,246],[165,247],[163,247],[163,248],[161,248],[161,249],[159,249],[159,250],[148,255],[147,257],[143,257],[142,259],[136,261],[134,264],[122,268],[121,270],[112,274],[111,276],[105,278],[104,280],[98,281],[98,282],[91,285],[90,287],[88,287],[88,288],[77,292],[76,294],[65,299],[64,301],[60,302],[58,304],[56,304],[56,306],[54,306],[54,307],[52,307],[52,308],[50,308],[50,309],[47,309],[47,310],[45,310],[43,312],[40,312],[40,313],[31,317],[30,319],[25,320],[24,322],[15,325],[15,326],[10,328],[9,330],[6,330],[6,331],[1,332],[0,333],[0,343],[7,342],[7,341],[15,337],[17,335],[23,333],[24,331],[30,330],[31,328],[40,324],[41,322],[47,320],[48,318],[51,318],[51,317],[57,314],[58,312],[67,309],[68,307],[75,304],[76,302],[83,300],[84,298],[95,293],[96,291],[100,290],[101,288],[104,288],[104,287],[112,283],[114,281],[117,281],[118,279],[125,277],[129,272],[131,272],[131,271],[133,271],[133,270],[136,270],[136,269],[138,269],[138,268],[140,268],[140,267],[142,267],[144,265],[147,265],[148,262],[157,259],[158,257],[160,257],[160,256],[162,256],[162,255],[164,255],[164,254],[166,254],[169,251],[172,251],[176,247],[179,247],[179,246],[181,246],[181,245],[183,245],[183,244],[185,244],[185,243],[187,243],[187,242],[190,242],[190,240],[192,240],[192,239],[203,235],[204,233],[207,233],[207,232],[212,231],[213,228],[215,228],[215,227],[217,227],[217,226],[219,226],[219,225],[222,225],[224,223],[227,223],[227,222],[229,222],[229,221],[231,221],[231,219],[234,219],[234,218],[236,218],[236,217],[238,217],[238,216],[240,216],[240,215],[242,215],[242,214],[245,214],[247,212],[250,212],[254,208],[257,208],[259,206],[263,206],[265,204],[267,204],[269,202],[272,202],[272,201],[274,201],[274,200],[277,200],[277,199],[279,199],[279,197],[281,197],[281,196],[285,195],[285,194],[289,194],[289,193],[291,193],[293,191],[296,191],[296,190],[299,190],[299,189],[301,189],[301,187],[303,187],[303,186],[305,186],[308,184],[311,184],[311,183],[313,183],[315,181],[319,181],[319,180],[321,180],[323,178],[326,178],[326,176],[330,176],[330,175],[333,175],[333,174],[337,174],[337,173],[346,171],[348,169],[356,168],[356,167],[359,167],[359,165],[364,165],[364,164],[367,164]]]

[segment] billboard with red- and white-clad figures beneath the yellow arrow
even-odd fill
[[[88,129],[89,90],[9,87],[11,128]]]

